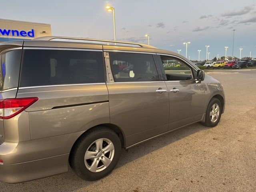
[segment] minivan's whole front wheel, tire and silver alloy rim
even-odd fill
[[[212,98],[206,109],[205,122],[202,124],[207,127],[216,126],[222,114],[222,104],[217,98]]]

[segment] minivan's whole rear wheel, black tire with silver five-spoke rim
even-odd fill
[[[70,166],[80,178],[94,181],[112,172],[120,154],[118,135],[98,126],[78,139],[70,154]]]

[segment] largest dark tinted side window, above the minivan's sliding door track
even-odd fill
[[[100,51],[24,50],[21,87],[102,82],[105,77]]]

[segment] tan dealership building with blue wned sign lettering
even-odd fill
[[[50,24],[0,19],[0,42],[51,36]]]

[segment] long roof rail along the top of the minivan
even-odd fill
[[[76,38],[76,37],[62,37],[62,36],[44,36],[34,38],[33,40],[43,40],[43,41],[50,41],[52,39],[71,39],[71,40],[85,40],[85,41],[98,41],[98,42],[110,42],[110,43],[120,43],[120,44],[132,44],[138,45],[144,48],[156,48],[152,45],[140,44],[140,43],[132,43],[132,42],[122,42],[122,41],[112,41],[112,40],[102,40],[102,39],[87,39],[87,38]]]

